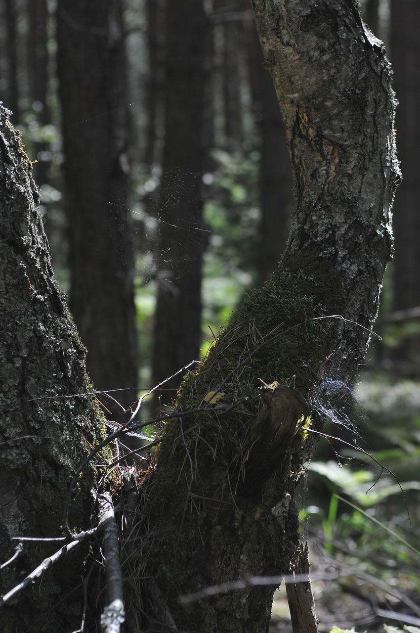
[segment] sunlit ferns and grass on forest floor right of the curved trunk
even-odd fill
[[[300,511],[300,518],[309,521],[323,539],[326,554],[338,565],[342,561],[355,569],[355,575],[370,575],[397,587],[400,594],[416,596],[420,591],[420,484],[415,474],[420,453],[420,385],[365,375],[355,389],[355,400],[357,444],[368,453],[369,445],[380,448],[373,452],[374,458],[397,475],[404,494],[392,474],[381,472],[368,454],[341,447],[340,463],[309,465],[311,505]],[[332,434],[341,435],[338,430]],[[333,629],[335,633],[341,630]],[[385,627],[385,631],[409,633],[409,628]]]

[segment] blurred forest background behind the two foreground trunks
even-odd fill
[[[320,442],[302,487],[314,567],[336,577],[314,583],[320,630],[420,624],[420,3],[361,11],[392,60],[404,182],[382,340],[342,410],[323,411],[348,444]],[[1,0],[0,53],[98,397],[118,420],[115,401],[165,381],[152,415],[287,241],[291,168],[249,1]]]

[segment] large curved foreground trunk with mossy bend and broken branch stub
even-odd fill
[[[293,491],[315,436],[299,432],[268,482],[249,482],[249,494],[245,482],[244,494],[235,494],[261,406],[258,379],[288,384],[295,374],[312,430],[320,430],[315,404],[334,406],[334,381],[351,383],[392,254],[390,209],[400,176],[381,43],[353,0],[253,5],[285,120],[297,204],[280,266],[184,380],[178,409],[185,415],[166,423],[144,492],[142,551],[149,554],[142,565],[161,598],[158,608],[156,586],[145,581],[152,630],[159,618],[166,625],[156,630],[170,630],[171,618],[191,633],[268,630],[274,586],[209,596],[188,609],[178,596],[248,574],[288,572],[298,538]],[[188,413],[211,391],[224,395]]]

